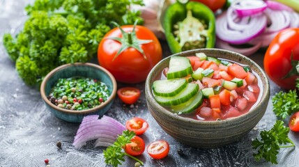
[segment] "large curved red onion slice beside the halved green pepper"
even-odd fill
[[[242,31],[233,29],[233,26],[230,26],[228,23],[230,22],[228,21],[229,19],[232,19],[232,17],[227,16],[226,12],[217,17],[216,35],[221,40],[231,44],[244,44],[263,33],[266,29],[267,18],[265,15],[252,16],[250,22]]]

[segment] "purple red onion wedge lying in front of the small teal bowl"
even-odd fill
[[[100,120],[98,116],[85,116],[72,145],[79,149],[86,145],[86,141],[97,139],[95,147],[107,147],[112,145],[124,130],[125,126],[109,116],[102,116]]]

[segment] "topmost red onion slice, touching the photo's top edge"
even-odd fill
[[[267,3],[260,0],[233,1],[231,8],[236,11],[238,16],[245,17],[263,12],[267,8]]]

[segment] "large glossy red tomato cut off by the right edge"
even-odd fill
[[[284,89],[294,89],[299,74],[299,29],[291,28],[279,32],[270,43],[263,66],[268,77]]]

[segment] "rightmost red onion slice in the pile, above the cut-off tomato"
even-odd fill
[[[287,11],[271,10],[268,8],[265,11],[265,14],[270,21],[270,26],[267,27],[265,33],[281,31],[283,29],[289,28],[291,24],[291,15]]]

